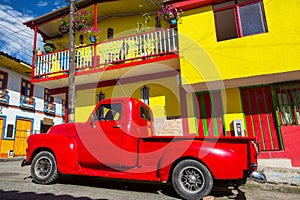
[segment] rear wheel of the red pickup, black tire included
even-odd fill
[[[213,177],[207,167],[200,162],[183,160],[173,170],[172,185],[180,197],[196,200],[211,192]]]

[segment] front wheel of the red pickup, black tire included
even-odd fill
[[[35,183],[52,184],[59,178],[56,160],[52,153],[41,151],[32,160],[31,176]]]

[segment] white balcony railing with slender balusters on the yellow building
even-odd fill
[[[76,48],[76,70],[105,68],[137,59],[178,52],[175,29],[161,29]],[[34,78],[61,75],[69,70],[69,50],[38,55]]]

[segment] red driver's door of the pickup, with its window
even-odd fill
[[[122,104],[102,104],[80,134],[79,162],[88,166],[121,166]]]

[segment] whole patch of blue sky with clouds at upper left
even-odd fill
[[[67,6],[67,0],[0,0],[0,51],[31,64],[33,30],[23,22]],[[38,37],[42,48],[42,38]]]

